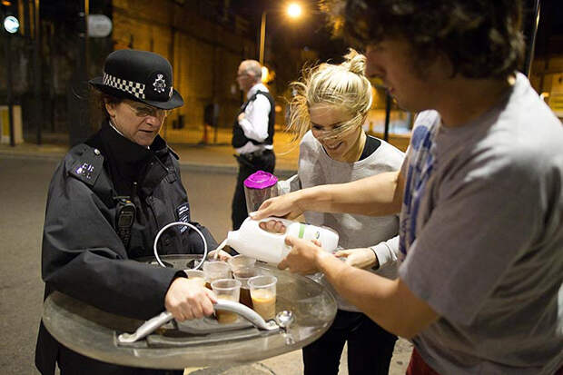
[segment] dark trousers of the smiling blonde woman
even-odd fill
[[[336,312],[329,331],[303,348],[305,375],[338,374],[344,342],[348,341],[350,375],[387,375],[397,336],[361,312]]]

